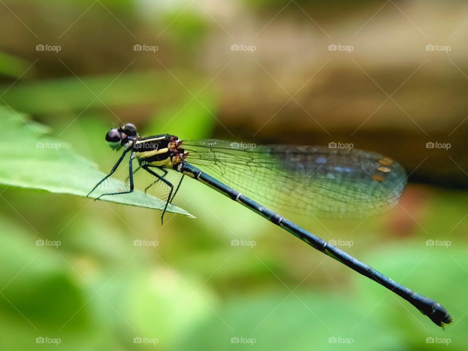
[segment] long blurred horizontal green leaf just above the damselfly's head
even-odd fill
[[[3,100],[13,108],[34,114],[63,113],[75,110],[102,108],[106,105],[115,107],[145,103],[167,103],[155,92],[171,89],[179,99],[190,96],[174,80],[167,81],[157,72],[138,72],[126,74],[116,79],[117,75],[90,78],[64,78],[49,81],[33,81],[16,84],[3,95]],[[115,80],[115,82],[113,82]],[[110,84],[112,82],[112,85]],[[151,86],[152,89],[148,89]],[[2,87],[6,89],[7,86]],[[25,96],[29,98],[24,99]]]

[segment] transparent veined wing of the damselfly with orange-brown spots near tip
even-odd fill
[[[406,172],[355,149],[184,140],[188,163],[255,201],[293,213],[361,217],[396,205]]]

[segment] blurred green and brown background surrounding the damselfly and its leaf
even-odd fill
[[[175,204],[197,218],[162,227],[154,210],[2,186],[1,350],[466,350],[467,18],[462,1],[0,1],[0,104],[104,172],[122,122],[397,159],[409,185],[389,213],[289,217],[454,319],[443,331],[190,179]]]

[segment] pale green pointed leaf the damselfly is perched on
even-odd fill
[[[0,120],[3,130],[7,131],[0,139],[0,148],[5,151],[0,159],[0,184],[86,196],[106,176],[95,163],[74,153],[68,143],[48,136],[46,126],[29,121],[27,116],[5,107],[0,107]],[[120,167],[126,167],[128,156],[126,160]],[[127,189],[117,179],[111,179],[109,183],[111,191]],[[96,198],[109,192],[109,187],[105,188],[99,187],[90,197]],[[164,209],[166,204],[166,201],[139,191],[100,199],[159,210]],[[192,216],[173,205],[169,205],[167,211]]]

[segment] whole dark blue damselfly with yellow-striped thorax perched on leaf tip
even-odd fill
[[[184,176],[191,177],[396,293],[436,325],[444,327],[452,322],[450,314],[438,302],[393,281],[259,203],[313,216],[362,217],[383,212],[398,203],[407,183],[404,168],[392,158],[353,148],[257,146],[215,139],[180,140],[170,134],[141,137],[132,123],[111,129],[105,139],[112,149],[123,148],[123,153],[111,172],[87,196],[112,176],[130,154],[130,189],[105,193],[95,200],[107,195],[132,193],[135,188],[133,175],[143,169],[156,177],[150,186],[160,181],[170,189],[162,221]],[[134,171],[135,158],[139,166]],[[182,174],[176,189],[166,179],[170,170]]]

